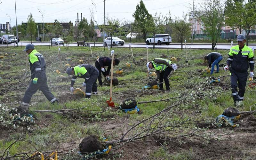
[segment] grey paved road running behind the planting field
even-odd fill
[[[19,43],[19,46],[22,45],[22,46],[26,46],[27,44],[29,44],[29,42],[20,42]],[[34,45],[48,45],[49,46],[49,43],[33,43]],[[17,46],[17,44],[8,44],[8,46]],[[134,48],[146,48],[146,44],[131,44],[132,47]],[[236,45],[236,44],[235,44]],[[0,45],[2,47],[4,46],[7,46],[7,45]],[[58,46],[58,45],[55,45],[53,44],[52,46]],[[60,46],[63,46],[60,44]],[[70,44],[69,46],[77,46],[77,44]],[[92,47],[94,47],[94,44],[92,43],[91,44]],[[96,47],[102,47],[103,44],[95,44]],[[249,45],[251,48],[254,47],[256,49],[256,44],[251,44]],[[108,46],[106,46],[108,47]],[[129,47],[129,44],[124,44],[123,46],[121,45],[116,45],[114,47]],[[149,45],[148,46],[149,48],[153,48],[153,45]],[[217,46],[217,49],[221,49],[221,50],[227,50],[227,49],[230,49],[231,45],[225,45],[225,44],[221,44],[221,45],[218,45]],[[155,45],[155,48],[161,48],[161,49],[167,49],[167,45]],[[176,49],[176,48],[181,48],[181,45],[180,44],[170,44],[169,45],[169,48],[171,49]],[[183,45],[183,48],[185,48],[185,45]],[[211,49],[212,48],[212,45],[210,44],[202,44],[202,45],[199,45],[199,44],[194,44],[194,45],[187,45],[187,48],[188,49]]]

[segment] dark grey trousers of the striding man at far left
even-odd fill
[[[51,103],[56,100],[54,95],[50,92],[48,85],[47,85],[47,77],[45,75],[45,71],[41,72],[41,76],[38,77],[37,84],[33,84],[33,80],[30,82],[27,91],[23,97],[23,102],[29,103],[33,94],[36,93],[37,90],[43,92],[44,96],[49,100]]]

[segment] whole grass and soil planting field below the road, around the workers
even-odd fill
[[[178,69],[169,76],[171,91],[142,90],[152,80],[147,76],[147,49],[134,48],[132,59],[129,48],[113,48],[115,58],[113,76],[119,85],[113,86],[115,108],[108,107],[108,85],[98,86],[98,95],[85,99],[70,92],[71,77],[65,65],[94,65],[97,56],[108,56],[107,48],[39,46],[46,61],[47,83],[60,104],[52,105],[41,91],[30,101],[29,114],[21,120],[10,115],[18,107],[31,81],[30,70],[25,73],[26,56],[20,47],[1,47],[0,53],[0,157],[1,159],[41,159],[57,151],[58,159],[253,159],[256,156],[256,118],[241,114],[236,127],[218,127],[215,118],[233,106],[229,72],[220,67],[220,73],[209,76],[202,72],[208,66],[204,55],[211,50],[149,49],[149,60],[176,57]],[[226,64],[229,50],[220,64]],[[5,55],[7,53],[8,55]],[[0,55],[0,56],[1,56]],[[93,57],[92,57],[93,55]],[[127,67],[126,63],[132,63]],[[123,74],[116,74],[122,68]],[[59,70],[60,73],[57,73]],[[154,71],[154,70],[153,70]],[[25,75],[25,78],[24,78]],[[213,76],[220,83],[209,82]],[[256,78],[255,78],[256,79]],[[77,78],[74,88],[81,88],[84,79]],[[255,82],[255,80],[254,80]],[[247,81],[244,106],[240,112],[255,110],[255,88]],[[98,81],[97,81],[98,84]],[[164,86],[165,89],[165,86]],[[134,98],[139,114],[127,114],[119,109],[120,103]],[[246,112],[248,113],[248,112]],[[250,113],[250,112],[249,112]],[[23,122],[24,121],[24,122]],[[27,122],[26,122],[27,121]],[[199,128],[199,124],[210,124]],[[214,127],[212,127],[214,126]],[[217,126],[217,127],[216,127]],[[79,153],[79,143],[95,135],[101,148],[110,152],[102,155]],[[106,141],[107,139],[107,141]],[[39,153],[40,152],[40,153]],[[35,153],[35,154],[34,154]],[[34,155],[33,155],[34,154]],[[30,158],[29,158],[30,157]],[[54,155],[52,155],[54,158]]]

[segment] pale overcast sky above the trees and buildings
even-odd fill
[[[104,0],[93,0],[97,5],[97,23],[103,24],[104,15]],[[0,22],[3,24],[10,21],[6,13],[12,19],[12,26],[15,23],[15,5],[14,0],[0,0]],[[140,0],[106,0],[105,1],[105,16],[118,18],[123,20],[133,20],[132,14],[135,11],[136,5]],[[193,0],[143,0],[148,12],[155,14],[162,12],[166,15],[171,10],[172,18],[174,16],[182,17],[183,12],[188,13],[189,7],[193,6]],[[195,0],[195,5],[202,0]],[[77,12],[81,19],[91,19],[90,9],[95,13],[95,7],[92,5],[92,0],[16,0],[17,23],[26,22],[28,14],[32,13],[36,22],[42,22],[42,15],[37,9],[44,12],[44,22],[53,22],[57,19],[62,22],[75,22]]]

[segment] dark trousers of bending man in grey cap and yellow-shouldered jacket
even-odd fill
[[[97,93],[97,78],[99,76],[99,71],[95,68],[95,70],[90,75],[90,79],[86,81],[86,87],[85,87],[85,95],[88,97],[91,97],[92,92],[94,94]]]

